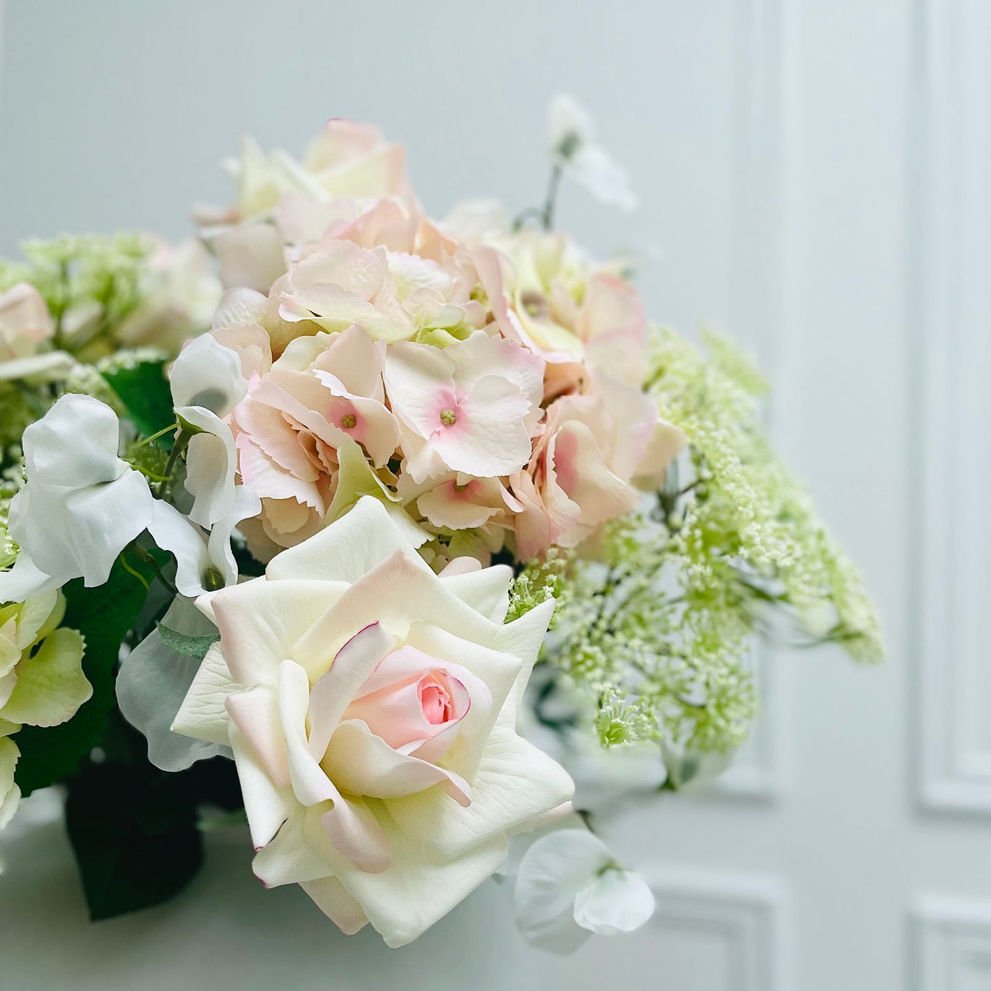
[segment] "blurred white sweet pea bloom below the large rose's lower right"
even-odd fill
[[[571,953],[593,933],[611,936],[639,929],[654,913],[654,895],[588,829],[558,829],[523,854],[514,910],[528,942]]]

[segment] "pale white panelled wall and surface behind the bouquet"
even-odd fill
[[[989,43],[983,0],[7,0],[7,253],[63,229],[178,237],[191,203],[227,201],[239,133],[298,151],[328,116],[405,141],[436,214],[521,207],[546,101],[575,93],[642,208],[566,188],[560,223],[642,253],[656,319],[760,355],[890,657],[765,658],[765,719],[721,793],[611,828],[658,892],[637,936],[542,955],[490,884],[388,952],[264,892],[237,836],[172,905],[89,927],[52,825],[7,844],[4,991],[991,988]]]

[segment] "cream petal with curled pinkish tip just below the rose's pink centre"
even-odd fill
[[[440,785],[459,805],[472,802],[471,787],[460,775],[399,753],[359,719],[337,727],[321,766],[339,788],[354,795],[393,799]]]

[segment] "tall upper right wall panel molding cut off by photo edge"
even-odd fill
[[[918,10],[919,792],[991,814],[991,6]]]

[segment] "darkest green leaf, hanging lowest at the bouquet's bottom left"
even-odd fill
[[[158,905],[203,863],[196,800],[182,775],[94,764],[69,785],[65,826],[96,922]]]

